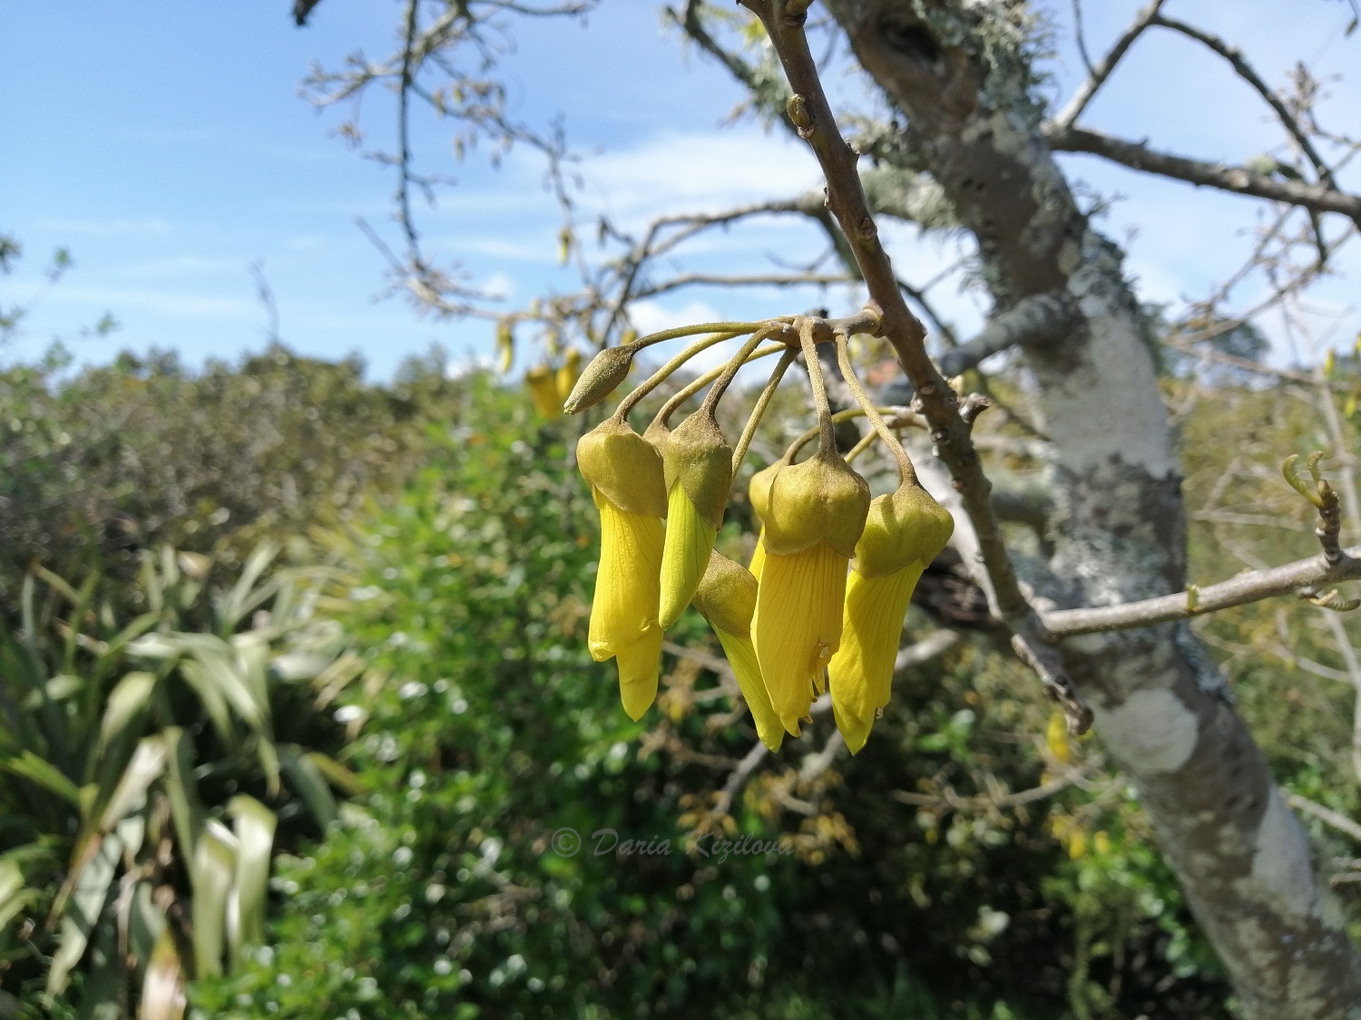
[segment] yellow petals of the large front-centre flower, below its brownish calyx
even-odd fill
[[[841,645],[848,556],[826,543],[781,556],[766,551],[751,623],[757,661],[784,728],[799,734],[813,688]]]

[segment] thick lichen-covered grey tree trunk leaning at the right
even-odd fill
[[[1081,214],[1044,143],[1026,56],[1004,22],[1013,5],[827,5],[908,116],[900,151],[977,238],[996,311],[1033,295],[1077,311],[1064,340],[1026,354],[1057,507],[1051,573],[1028,581],[1062,607],[1181,590],[1180,476],[1150,344],[1120,250]],[[1247,1016],[1361,1016],[1361,963],[1341,910],[1190,630],[1083,636],[1064,654]]]

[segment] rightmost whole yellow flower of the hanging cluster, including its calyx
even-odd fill
[[[954,518],[912,479],[870,503],[847,582],[841,647],[827,664],[837,729],[852,753],[889,703],[912,590],[954,532]]]

